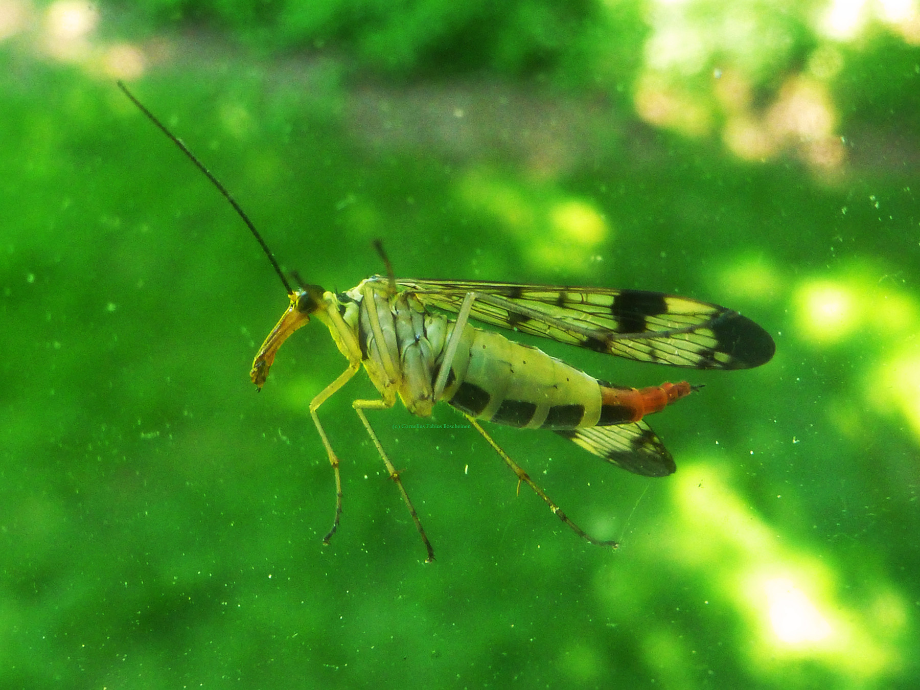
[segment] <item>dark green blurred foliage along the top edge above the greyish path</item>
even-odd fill
[[[624,78],[638,66],[645,32],[638,4],[620,3],[613,21],[591,0],[144,0],[126,7],[161,23],[227,29],[263,50],[331,50],[358,68],[414,79],[484,71],[584,79],[599,51],[606,59],[615,55],[615,71]],[[613,40],[613,55],[599,36]]]

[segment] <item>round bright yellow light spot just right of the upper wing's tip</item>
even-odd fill
[[[813,342],[837,342],[857,328],[856,296],[844,285],[816,281],[802,285],[794,302],[799,333]]]

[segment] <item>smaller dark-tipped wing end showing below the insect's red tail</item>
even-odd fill
[[[557,431],[589,453],[646,477],[665,477],[677,468],[658,434],[644,421],[610,427]]]

